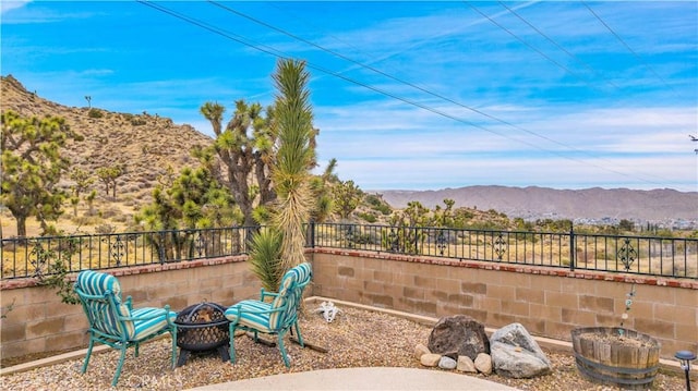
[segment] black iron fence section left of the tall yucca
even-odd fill
[[[254,228],[3,239],[1,279],[241,255]]]

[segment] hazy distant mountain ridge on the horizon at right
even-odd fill
[[[698,192],[628,188],[554,190],[545,187],[468,186],[440,191],[382,191],[394,208],[418,200],[429,208],[444,206],[495,209],[509,218],[524,219],[628,219],[642,221],[698,221]]]

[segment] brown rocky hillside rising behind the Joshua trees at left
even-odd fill
[[[134,204],[146,203],[158,176],[172,167],[174,172],[195,167],[190,156],[195,145],[210,145],[213,139],[190,125],[177,125],[170,119],[148,113],[118,113],[88,107],[67,107],[27,91],[11,75],[1,80],[0,109],[22,115],[58,115],[84,140],[71,143],[65,156],[73,167],[95,173],[101,167],[123,166],[125,174],[118,179],[117,196]],[[100,196],[99,183],[94,187]]]

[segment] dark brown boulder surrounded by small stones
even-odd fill
[[[438,319],[428,343],[432,353],[448,356],[468,356],[476,359],[478,354],[490,354],[490,340],[484,326],[466,315]]]

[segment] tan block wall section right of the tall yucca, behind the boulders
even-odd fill
[[[577,327],[624,327],[698,351],[698,281],[316,248],[313,294],[430,317],[465,314],[486,327],[520,322],[569,341]]]

